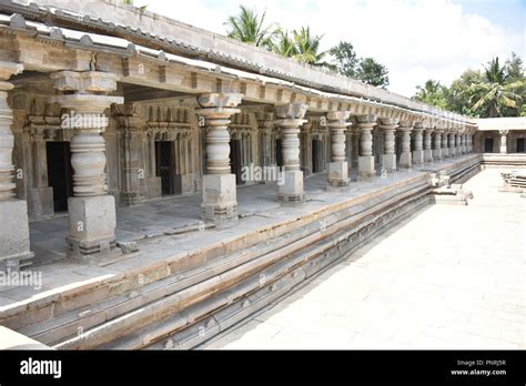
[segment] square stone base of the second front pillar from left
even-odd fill
[[[70,236],[75,256],[108,253],[115,243],[115,199],[112,195],[68,199]]]

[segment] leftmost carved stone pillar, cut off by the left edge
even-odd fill
[[[29,251],[28,205],[14,192],[13,115],[8,104],[8,91],[13,85],[7,80],[22,69],[18,63],[0,62],[0,272],[18,271],[33,257]]]

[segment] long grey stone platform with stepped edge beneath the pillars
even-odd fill
[[[119,209],[118,242],[138,251],[97,264],[53,262],[65,256],[67,219],[33,222],[42,285],[3,287],[0,324],[55,348],[193,347],[427,205],[431,172],[462,180],[478,164],[468,155],[337,192],[316,175],[292,206],[274,184],[240,187],[240,225],[226,230],[200,224],[199,195]]]

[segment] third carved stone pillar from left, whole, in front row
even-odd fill
[[[203,217],[219,227],[237,223],[235,174],[230,167],[230,118],[242,99],[239,93],[208,93],[198,98],[195,112],[205,118],[206,165],[203,175]]]

